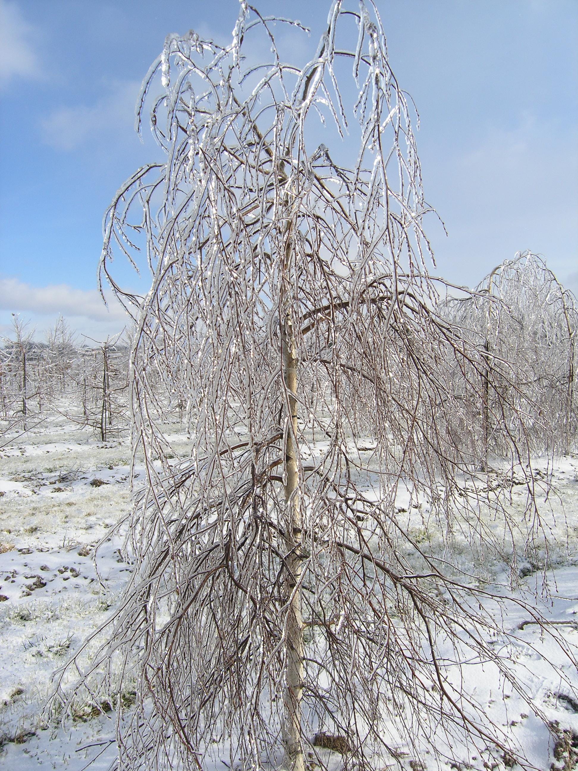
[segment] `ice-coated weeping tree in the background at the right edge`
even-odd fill
[[[469,436],[472,453],[484,464],[489,454],[507,454],[503,423],[533,452],[570,453],[578,430],[578,305],[543,259],[517,254],[494,268],[473,295],[446,301],[441,312],[482,351],[481,395],[462,370],[453,375],[468,402],[459,413],[468,428],[456,425],[455,432]],[[473,369],[469,378],[475,381]]]

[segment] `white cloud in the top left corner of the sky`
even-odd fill
[[[33,33],[18,5],[0,0],[0,86],[7,86],[14,78],[39,74]]]

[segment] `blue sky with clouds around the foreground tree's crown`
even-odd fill
[[[313,49],[330,3],[257,5],[311,26]],[[433,217],[426,226],[434,272],[476,284],[531,249],[578,290],[578,2],[377,5],[391,66],[420,113],[425,194],[449,231]],[[237,9],[0,0],[0,331],[11,312],[39,337],[59,313],[93,337],[123,326],[99,301],[96,266],[109,200],[156,154],[133,131],[141,79],[169,32],[227,42]]]

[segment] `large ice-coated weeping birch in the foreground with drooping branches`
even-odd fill
[[[403,740],[444,755],[452,736],[506,751],[451,672],[481,655],[513,677],[477,602],[490,589],[432,556],[411,521],[427,510],[448,544],[459,531],[503,545],[448,418],[462,409],[450,363],[484,359],[435,312],[412,106],[375,3],[328,7],[304,65],[275,37],[301,25],[247,2],[230,45],[170,35],[138,105],[140,129],[152,104],[166,160],[106,215],[101,269],[136,322],[146,464],[135,571],[90,669],[113,688],[120,662],[114,687],[137,682],[123,769],[228,753],[302,771],[328,747],[362,764]],[[271,59],[250,66],[263,41]],[[348,168],[326,124],[357,137]],[[146,257],[145,298],[119,286],[118,254]],[[187,398],[184,459],[161,425],[173,392]]]

